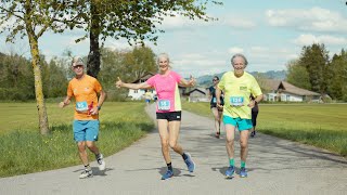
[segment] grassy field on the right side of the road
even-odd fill
[[[213,118],[208,103],[183,108]],[[260,104],[257,130],[347,156],[347,104]]]

